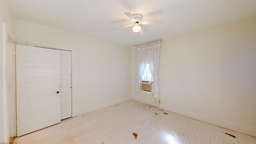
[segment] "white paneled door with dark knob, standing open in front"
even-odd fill
[[[60,122],[60,50],[16,45],[17,136]]]

